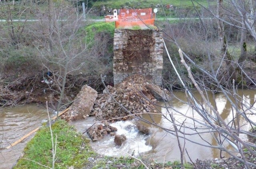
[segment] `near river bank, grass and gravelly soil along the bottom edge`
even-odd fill
[[[57,127],[56,127],[57,126]],[[61,129],[60,129],[61,128]],[[55,130],[56,129],[56,130]],[[55,165],[60,168],[69,168],[69,169],[122,169],[122,168],[130,168],[130,169],[138,169],[138,168],[149,168],[149,169],[180,169],[181,164],[178,161],[165,161],[164,163],[159,163],[155,161],[153,158],[144,156],[143,154],[134,157],[131,154],[127,157],[109,157],[105,155],[98,154],[92,150],[89,144],[88,138],[82,136],[77,133],[74,128],[72,128],[68,123],[60,120],[57,123],[52,125],[52,130],[54,134],[56,134],[56,138],[58,139],[57,147],[62,145],[62,149],[57,149],[56,157],[58,160]],[[67,134],[68,132],[68,134]],[[70,133],[71,132],[71,133]],[[40,168],[41,165],[46,165],[48,167],[51,166],[50,160],[52,159],[52,151],[48,151],[49,147],[51,147],[51,139],[45,138],[45,135],[50,134],[50,128],[47,126],[42,127],[42,129],[36,134],[34,138],[27,144],[24,149],[24,154],[18,160],[18,163],[15,165],[14,169],[26,168],[30,165],[33,168]],[[48,135],[49,137],[50,135]],[[71,137],[70,137],[71,136]],[[63,144],[62,139],[64,137],[64,143],[72,139],[72,141],[68,141],[66,143],[71,143],[68,145],[70,147],[66,147]],[[39,139],[39,140],[38,140]],[[43,140],[42,140],[43,139]],[[37,145],[38,142],[44,142],[44,144],[48,146],[40,146],[40,149]],[[73,145],[74,144],[74,145]],[[36,148],[38,147],[38,148]],[[76,149],[77,153],[72,153],[72,151],[68,151],[68,153],[72,154],[71,159],[63,158],[63,154],[67,151],[66,149]],[[58,153],[60,151],[60,153]],[[35,154],[36,153],[36,154]],[[38,160],[38,156],[43,155],[44,157],[41,160]],[[36,156],[35,156],[36,155]],[[33,160],[28,160],[30,157],[37,157]],[[248,161],[255,163],[256,158],[253,156],[246,156]],[[239,157],[241,158],[241,157]],[[39,158],[40,159],[40,158]],[[48,159],[45,161],[44,159]],[[204,160],[196,160],[193,163],[186,163],[186,169],[195,168],[195,169],[243,169],[243,163],[239,162],[234,158],[224,158],[224,159],[204,159]],[[254,167],[252,167],[253,169]]]

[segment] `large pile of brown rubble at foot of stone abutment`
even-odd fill
[[[103,94],[98,94],[90,115],[96,116],[97,120],[113,119],[112,121],[114,122],[133,118],[133,116],[128,116],[130,114],[124,108],[131,114],[136,115],[150,112],[152,102],[156,101],[156,99],[150,90],[146,88],[147,84],[154,85],[149,83],[144,76],[136,74],[127,77],[122,83],[118,83],[114,87],[107,86]],[[154,86],[159,88],[156,85]]]

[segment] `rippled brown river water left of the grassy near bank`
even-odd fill
[[[0,169],[12,168],[20,157],[26,142],[33,135],[10,149],[5,149],[5,147],[40,126],[41,120],[47,117],[45,108],[36,104],[5,108],[0,112]]]

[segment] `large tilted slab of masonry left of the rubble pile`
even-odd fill
[[[77,94],[68,112],[62,115],[62,119],[67,121],[80,120],[86,118],[91,112],[94,102],[98,97],[98,92],[90,86],[84,85]]]

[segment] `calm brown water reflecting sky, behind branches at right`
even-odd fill
[[[196,98],[200,98],[200,95],[197,92],[193,93]],[[239,101],[243,104],[238,104],[240,109],[245,109],[245,107],[252,107],[252,111],[255,111],[255,94],[256,90],[238,90],[238,96]],[[192,127],[194,130],[191,130],[189,128],[182,128],[181,130],[184,131],[186,134],[185,137],[189,140],[192,140],[194,142],[203,144],[203,145],[213,145],[218,146],[218,142],[223,142],[223,145],[226,149],[229,149],[230,151],[234,151],[234,148],[223,138],[220,137],[216,133],[202,133],[200,135],[194,135],[195,130],[197,132],[205,132],[208,129],[199,129],[202,127],[202,124],[200,122],[203,122],[202,117],[193,111],[193,109],[186,104],[188,101],[185,92],[176,91],[174,92],[174,96],[176,98],[173,98],[171,102],[169,102],[169,112],[172,112],[174,114],[175,120],[180,123],[184,124],[187,127]],[[236,116],[236,110],[232,108],[231,102],[222,94],[218,93],[215,94],[215,102],[214,97],[212,93],[207,93],[208,100],[214,105],[216,103],[216,108],[218,112],[220,113],[220,116],[222,119],[228,123],[230,126],[238,127],[242,126],[241,129],[248,131],[250,129],[250,126],[248,126],[246,120],[244,118],[239,118],[233,121],[233,118]],[[232,95],[230,95],[230,99],[234,101],[234,98]],[[200,100],[202,102],[202,100]],[[160,106],[164,106],[164,103],[158,103]],[[208,112],[210,112],[210,109],[206,106],[204,107]],[[248,111],[248,110],[247,110]],[[178,113],[179,112],[179,113]],[[166,114],[167,109],[162,108],[162,113]],[[183,115],[182,115],[183,114]],[[248,115],[250,120],[253,120],[256,122],[256,116],[255,115]],[[172,122],[170,122],[170,117],[164,118],[163,116],[152,116],[154,120],[150,118],[149,115],[143,116],[146,120],[149,120],[151,122],[157,122],[160,126],[169,129],[174,130]],[[198,122],[194,122],[189,117],[196,118]],[[198,129],[197,129],[198,127]],[[178,148],[178,143],[176,140],[176,137],[172,134],[167,134],[164,130],[157,128],[155,126],[151,126],[153,134],[150,140],[148,142],[153,145],[153,150],[151,153],[154,153],[154,157],[158,161],[163,161],[163,159],[167,161],[172,160],[179,160],[180,159],[180,150]],[[182,136],[182,135],[181,135]],[[246,140],[246,136],[244,134],[239,135],[240,138]],[[184,139],[180,139],[180,142],[182,143],[182,146],[184,145]],[[203,147],[201,145],[198,145],[196,143],[192,143],[190,141],[185,141],[185,148],[187,149],[190,158],[194,161],[196,159],[207,159],[207,158],[220,158],[220,150],[216,148],[210,148],[210,147]],[[151,153],[148,153],[148,155],[152,155]],[[222,151],[221,152],[222,157],[229,157],[228,153]],[[188,160],[188,155],[185,155],[186,160]]]

